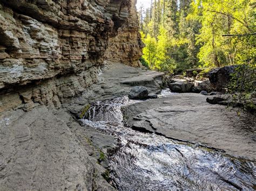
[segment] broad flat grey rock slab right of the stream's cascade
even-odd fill
[[[256,159],[255,126],[224,105],[209,104],[201,94],[176,94],[122,108],[133,129],[158,133]]]

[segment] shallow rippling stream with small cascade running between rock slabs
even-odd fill
[[[112,185],[119,190],[254,190],[254,162],[196,144],[134,131],[123,124],[126,96],[100,101],[81,121],[117,139],[105,153]]]

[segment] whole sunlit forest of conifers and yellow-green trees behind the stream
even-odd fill
[[[170,73],[255,64],[255,7],[254,0],[151,0],[139,9],[141,61]]]

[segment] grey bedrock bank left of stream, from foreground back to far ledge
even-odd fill
[[[120,63],[107,65],[99,71],[98,83],[80,96],[64,99],[59,109],[53,102],[52,107],[33,102],[26,110],[33,94],[6,94],[1,103],[13,109],[0,114],[0,190],[112,190],[102,176],[107,172],[102,152],[116,140],[80,126],[75,117],[83,116],[90,103],[127,95],[132,84],[144,83],[150,92],[159,93],[163,75]],[[44,88],[48,95],[46,88],[61,79],[32,89]]]

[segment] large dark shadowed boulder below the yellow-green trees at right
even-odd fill
[[[209,80],[213,88],[217,91],[227,87],[231,80],[231,74],[237,66],[225,66],[223,68],[215,68],[208,73]]]

